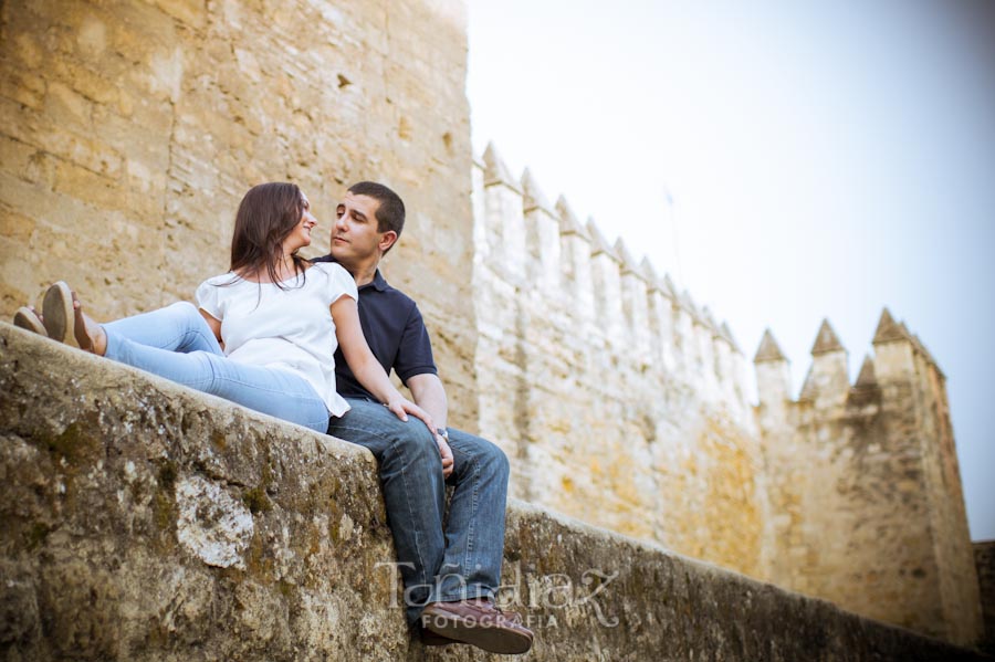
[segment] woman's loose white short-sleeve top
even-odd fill
[[[341,296],[357,298],[356,282],[341,265],[318,262],[280,285],[229,272],[197,287],[197,305],[221,322],[228,358],[300,375],[342,416],[349,406],[335,392],[338,339],[329,306]]]

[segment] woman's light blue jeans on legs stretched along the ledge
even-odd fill
[[[306,379],[227,358],[193,304],[175,303],[103,327],[109,359],[317,432],[328,427],[328,408]]]

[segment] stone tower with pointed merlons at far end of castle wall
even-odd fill
[[[936,637],[982,634],[943,376],[886,311],[852,386],[827,322],[797,401],[773,337],[757,355],[769,578]]]

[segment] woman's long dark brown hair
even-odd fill
[[[235,214],[231,235],[231,271],[240,275],[259,274],[265,269],[270,282],[276,280],[276,265],[283,260],[283,240],[293,232],[304,213],[301,189],[295,183],[270,182],[249,189]],[[291,254],[294,274],[304,273],[304,259]]]

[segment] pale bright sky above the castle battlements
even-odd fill
[[[569,8],[564,9],[564,8]],[[972,538],[995,538],[995,2],[469,0],[474,153],[766,327],[795,395],[828,318],[881,309],[947,378]]]

